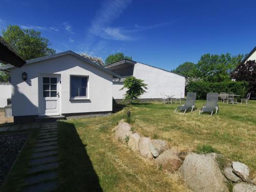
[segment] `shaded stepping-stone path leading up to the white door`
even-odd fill
[[[57,141],[57,122],[42,124],[37,143],[32,150],[25,178],[26,187],[23,192],[44,192],[57,189]]]

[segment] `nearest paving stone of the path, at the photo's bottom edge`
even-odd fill
[[[47,181],[43,183],[38,183],[35,185],[31,185],[23,189],[23,192],[44,192],[44,191],[50,191],[55,190],[57,188],[57,180],[53,181]]]

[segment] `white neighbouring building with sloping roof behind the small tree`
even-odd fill
[[[125,93],[125,90],[120,91],[123,87],[122,81],[129,76],[142,79],[147,84],[148,89],[140,97],[141,100],[160,100],[163,95],[184,97],[185,77],[182,75],[128,59],[112,63],[105,68],[121,76],[113,78],[113,98],[117,102],[123,99]]]

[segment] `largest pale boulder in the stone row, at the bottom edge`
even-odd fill
[[[188,154],[180,167],[180,173],[185,183],[198,192],[228,191],[222,175],[216,154]]]

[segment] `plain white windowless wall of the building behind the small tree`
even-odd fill
[[[183,76],[138,62],[134,66],[133,76],[138,79],[143,79],[147,84],[148,89],[140,98],[161,98],[160,93],[169,96],[175,95],[174,97],[176,98],[184,97],[185,77]],[[121,87],[117,85],[113,86],[114,99],[123,98],[123,93],[118,91]]]

